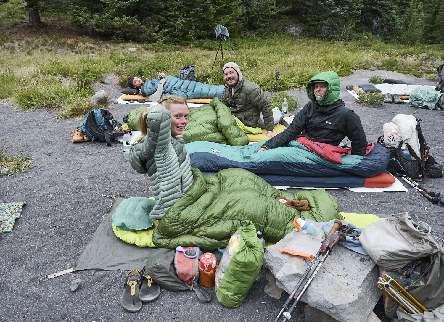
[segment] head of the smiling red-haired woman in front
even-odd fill
[[[171,136],[182,135],[188,124],[188,105],[186,99],[179,95],[166,95],[159,100],[159,104],[165,106],[171,113]],[[148,109],[140,113],[139,128],[142,135],[147,135],[147,114]]]

